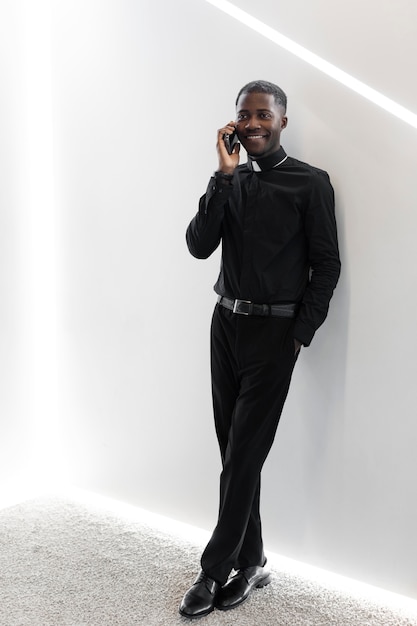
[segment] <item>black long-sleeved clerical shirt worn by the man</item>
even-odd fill
[[[334,194],[323,170],[278,152],[215,174],[187,229],[205,259],[222,241],[216,293],[257,304],[299,304],[294,337],[309,345],[340,274]]]

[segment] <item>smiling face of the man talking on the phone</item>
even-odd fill
[[[269,93],[243,93],[236,105],[239,141],[252,157],[265,157],[280,147],[287,125],[284,110]]]

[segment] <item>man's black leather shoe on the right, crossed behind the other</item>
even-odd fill
[[[229,578],[216,597],[216,607],[221,611],[234,609],[242,604],[255,587],[265,587],[271,582],[271,574],[266,567],[255,565],[240,569]]]

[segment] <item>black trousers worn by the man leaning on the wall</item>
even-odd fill
[[[296,361],[293,328],[290,318],[214,310],[212,391],[223,470],[218,522],[201,566],[222,585],[233,568],[265,562],[260,477]]]

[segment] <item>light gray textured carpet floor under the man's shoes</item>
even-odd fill
[[[273,569],[233,611],[178,614],[202,545],[97,505],[38,498],[0,511],[1,626],[413,626],[416,614]]]

